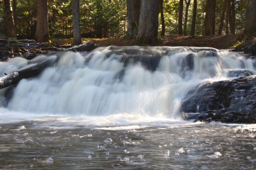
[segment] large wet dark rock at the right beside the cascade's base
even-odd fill
[[[186,119],[256,123],[256,76],[201,84],[183,101]]]

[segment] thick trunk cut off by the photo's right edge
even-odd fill
[[[256,32],[256,0],[248,0],[246,8],[244,34],[249,35]]]

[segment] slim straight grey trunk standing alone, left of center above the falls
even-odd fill
[[[73,45],[79,45],[81,41],[80,32],[80,10],[79,0],[73,0]]]

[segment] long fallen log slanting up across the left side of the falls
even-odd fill
[[[10,74],[6,74],[5,76],[0,78],[0,89],[16,84],[23,78],[31,78],[37,76],[45,68],[52,66],[54,63],[56,63],[56,61],[58,61],[58,59],[61,57],[62,53],[66,51],[92,51],[96,47],[98,47],[98,45],[92,42],[77,45],[63,50],[62,52],[58,53],[57,57],[46,57],[46,60],[41,61],[38,64],[35,64],[28,68],[24,68],[22,70],[14,71]]]

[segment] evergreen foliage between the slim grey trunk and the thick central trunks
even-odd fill
[[[81,25],[84,32],[91,32],[98,38],[123,36],[126,22],[126,4],[123,0],[81,0]]]

